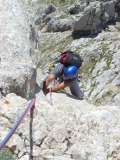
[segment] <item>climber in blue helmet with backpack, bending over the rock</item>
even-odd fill
[[[82,100],[84,93],[80,90],[78,79],[78,70],[82,65],[82,58],[72,51],[65,51],[60,55],[59,63],[54,70],[48,75],[43,82],[43,93],[56,92],[69,87],[72,95]],[[59,79],[59,83],[52,88],[48,88],[49,83],[55,79]]]

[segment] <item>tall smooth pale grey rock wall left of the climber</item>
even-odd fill
[[[23,97],[33,93],[35,69],[30,58],[29,24],[17,0],[0,1],[0,90]]]

